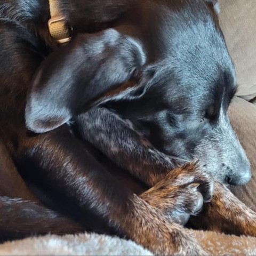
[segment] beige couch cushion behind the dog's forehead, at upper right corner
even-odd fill
[[[256,97],[256,0],[219,3],[220,25],[237,73],[237,95],[252,100]]]

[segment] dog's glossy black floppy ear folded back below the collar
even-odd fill
[[[123,83],[145,61],[140,43],[114,29],[78,35],[37,70],[27,97],[28,129],[38,133],[53,130],[101,100],[128,93],[127,87],[134,84]]]

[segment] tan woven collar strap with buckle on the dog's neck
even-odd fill
[[[48,21],[48,28],[52,38],[62,44],[71,40],[70,31],[72,29],[68,29],[57,2],[58,0],[49,0],[51,19]]]

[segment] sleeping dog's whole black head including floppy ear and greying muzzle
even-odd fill
[[[130,4],[112,29],[79,35],[47,58],[28,98],[27,126],[49,131],[100,105],[129,119],[165,154],[200,159],[201,167],[224,183],[246,183],[251,177],[249,161],[227,116],[236,91],[235,71],[213,6],[201,1]],[[109,92],[138,76],[139,81]],[[99,111],[94,114],[99,116]],[[94,114],[82,127],[99,123]],[[99,124],[99,129],[106,125]],[[84,129],[95,145],[102,132],[95,137]],[[123,130],[117,129],[115,137],[118,132]],[[107,145],[116,143],[109,141],[111,135],[103,131],[109,139],[99,141],[108,155],[112,153]],[[123,140],[117,137],[119,142]]]

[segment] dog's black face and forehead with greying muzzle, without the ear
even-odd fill
[[[211,15],[204,15],[208,10]],[[199,159],[202,168],[223,183],[246,183],[250,163],[227,112],[237,90],[235,70],[214,5],[210,1],[207,9],[189,5],[170,17],[170,23],[172,28],[154,31],[158,52],[165,50],[145,69],[143,97],[108,107],[130,119],[165,154]]]

